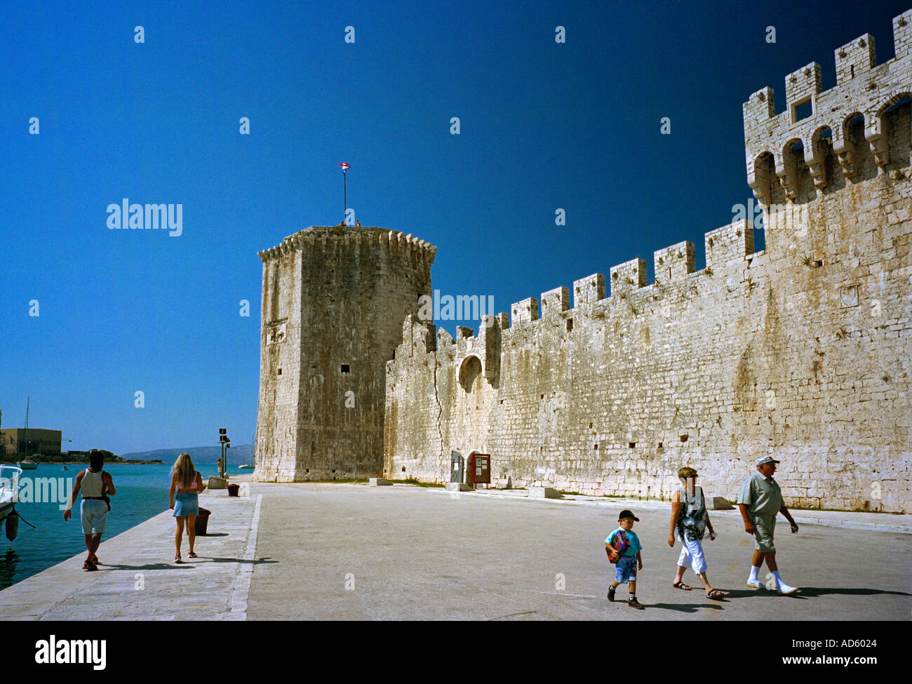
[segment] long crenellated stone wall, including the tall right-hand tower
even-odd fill
[[[733,499],[782,461],[787,503],[912,510],[912,10],[896,57],[873,37],[744,104],[766,247],[736,221],[557,287],[456,338],[408,316],[387,363],[384,467],[449,482],[450,452],[492,454],[498,486],[667,498],[689,464]],[[804,116],[811,109],[810,116]],[[775,210],[785,208],[787,211]]]

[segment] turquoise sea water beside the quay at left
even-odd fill
[[[41,489],[36,487],[36,478],[70,479],[68,491],[71,492],[72,481],[86,467],[67,465],[65,471],[60,463],[41,463],[34,471],[22,472],[19,477],[20,496],[26,498],[23,486],[26,480],[30,480],[32,495],[28,498],[36,498],[36,492]],[[197,463],[196,467],[202,473],[203,480],[218,474],[218,466],[213,463]],[[171,486],[171,464],[106,463],[105,470],[114,479],[117,494],[111,497],[108,528],[101,537],[101,546],[98,548],[98,557],[102,563],[105,562],[106,540],[168,510],[168,489]],[[237,466],[228,467],[229,474],[244,472],[252,471],[242,471]],[[47,484],[44,489],[45,496],[42,498],[49,498]],[[0,523],[0,589],[47,570],[48,567],[57,565],[70,556],[87,553],[79,518],[79,503],[73,506],[73,516],[66,522],[60,505],[57,501],[16,503],[16,513],[22,517],[19,519],[19,534],[12,542],[6,539],[5,526]],[[25,523],[26,520],[35,525],[36,529],[29,527]]]

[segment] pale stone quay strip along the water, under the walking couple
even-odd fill
[[[127,532],[102,538],[97,572],[82,569],[84,550],[0,591],[0,619],[243,620],[257,500],[225,493],[200,497],[212,518],[210,535],[197,537],[199,558],[188,557],[185,532],[184,563],[173,562],[174,518],[171,511],[160,513]],[[78,532],[67,532],[71,530]]]

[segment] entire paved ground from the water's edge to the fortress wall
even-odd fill
[[[670,586],[679,544],[666,542],[668,503],[253,483],[249,497],[212,492],[202,505],[212,518],[199,558],[185,540],[189,562],[171,562],[174,523],[161,513],[106,540],[97,573],[80,569],[80,554],[0,592],[0,618],[906,620],[912,610],[907,515],[794,512],[800,532],[780,524],[776,545],[783,578],[803,588],[778,596],[744,586],[753,544],[740,514],[711,512],[710,580],[731,591],[720,603]],[[641,518],[644,611],[605,598],[602,540],[622,507]],[[863,549],[864,562],[845,549]],[[685,582],[699,586],[691,572]]]

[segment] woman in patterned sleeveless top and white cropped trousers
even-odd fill
[[[710,515],[706,512],[706,502],[703,499],[703,489],[697,486],[697,471],[693,468],[681,468],[678,471],[681,488],[675,492],[671,500],[671,527],[668,531],[668,546],[675,545],[675,539],[681,543],[681,553],[678,557],[678,572],[671,586],[676,589],[690,591],[690,587],[681,580],[688,565],[700,577],[706,597],[719,600],[725,596],[719,589],[713,589],[706,576],[706,558],[703,556],[701,540],[710,530],[710,541],[716,538],[716,533],[710,523]]]

